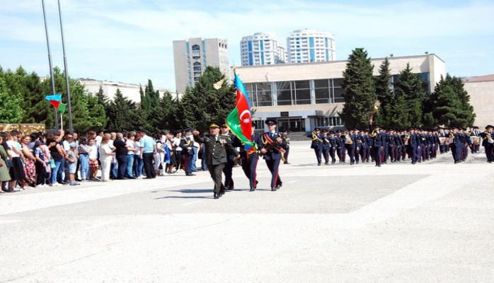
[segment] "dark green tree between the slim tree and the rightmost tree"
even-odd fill
[[[400,72],[394,84],[395,96],[403,96],[403,103],[406,102],[407,105],[407,108],[396,109],[394,115],[406,115],[410,122],[410,125],[401,125],[401,127],[420,127],[423,125],[423,103],[427,97],[426,87],[425,81],[420,78],[420,75],[414,74],[410,64],[406,64],[406,69]],[[398,110],[400,112],[397,112]]]

